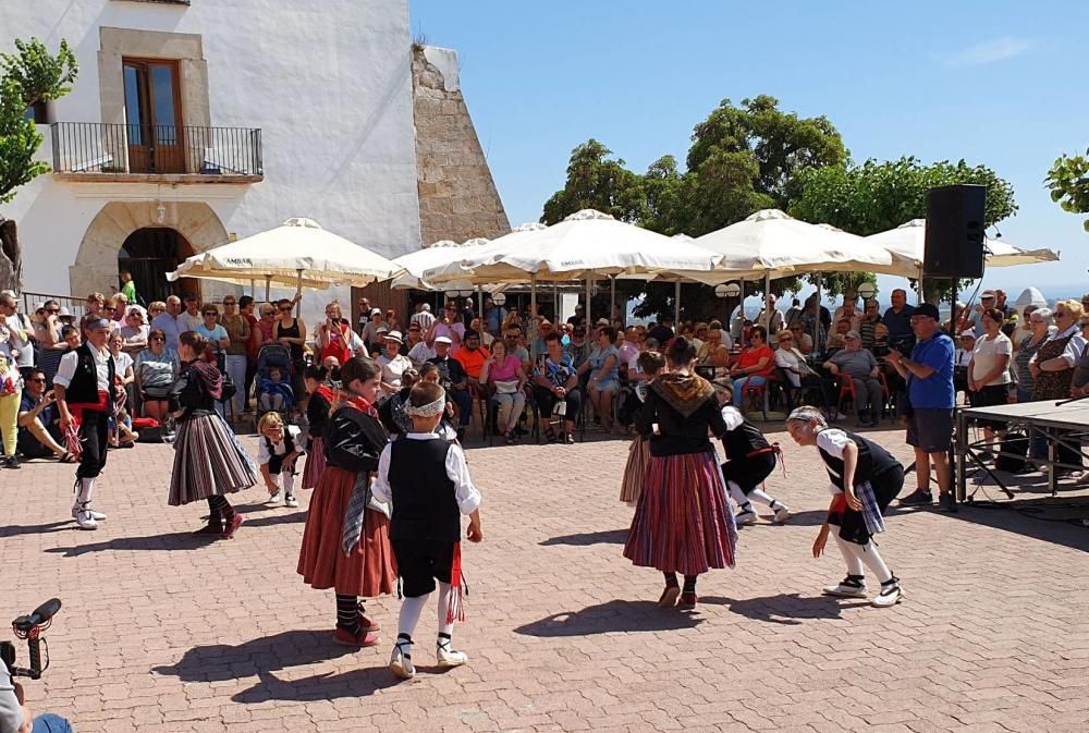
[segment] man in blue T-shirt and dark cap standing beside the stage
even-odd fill
[[[889,363],[907,380],[910,414],[907,444],[915,448],[915,474],[919,487],[901,499],[902,504],[925,505],[930,494],[930,463],[938,472],[938,501],[942,509],[955,512],[949,450],[953,442],[953,339],[939,329],[938,308],[929,303],[915,308],[911,330],[917,342],[911,358],[890,350]]]

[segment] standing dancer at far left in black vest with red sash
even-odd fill
[[[87,327],[95,325],[93,321]],[[106,518],[90,508],[90,502],[98,476],[106,467],[109,420],[115,410],[114,377],[110,350],[96,349],[89,342],[64,354],[53,377],[53,383],[64,388],[64,401],[79,440],[72,518],[81,529],[97,529],[97,523]]]

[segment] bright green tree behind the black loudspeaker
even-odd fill
[[[964,160],[943,160],[931,166],[914,157],[861,166],[842,164],[806,169],[797,175],[800,195],[791,204],[791,216],[812,223],[833,227],[869,236],[895,229],[911,219],[927,216],[927,191],[934,186],[975,183],[987,186],[983,223],[991,227],[1017,211],[1013,186],[986,166],[969,166]],[[845,278],[857,273],[825,277],[830,292],[842,292]],[[857,283],[852,283],[857,284]],[[933,280],[923,283],[925,300],[940,298],[949,283]]]

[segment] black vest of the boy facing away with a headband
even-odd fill
[[[456,542],[461,511],[454,482],[446,476],[445,440],[402,438],[390,443],[390,490],[393,520],[390,539]]]

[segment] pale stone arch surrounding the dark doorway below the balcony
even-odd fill
[[[223,222],[201,201],[111,201],[83,235],[75,262],[69,268],[70,292],[77,296],[112,292],[118,283],[121,246],[130,234],[145,228],[173,229],[197,253],[228,241]]]

